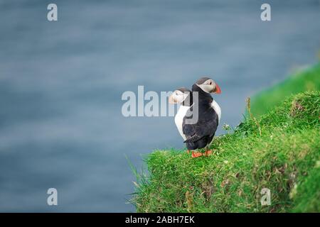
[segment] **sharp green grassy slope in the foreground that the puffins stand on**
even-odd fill
[[[305,92],[216,138],[210,157],[154,151],[149,177],[137,175],[137,211],[319,212],[319,113],[320,92]],[[265,187],[271,206],[260,204]]]

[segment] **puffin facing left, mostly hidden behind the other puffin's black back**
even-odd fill
[[[183,140],[186,140],[186,135],[184,135],[182,131],[182,123],[184,116],[186,116],[186,112],[193,104],[191,90],[186,87],[176,89],[171,96],[169,96],[169,104],[181,104],[174,117],[174,122],[176,123],[176,128],[178,128],[181,137]]]

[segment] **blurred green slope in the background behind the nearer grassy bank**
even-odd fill
[[[287,96],[306,91],[320,91],[320,63],[309,70],[297,72],[274,87],[257,94],[252,99],[252,114],[266,114]]]

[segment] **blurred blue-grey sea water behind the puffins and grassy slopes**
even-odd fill
[[[183,143],[173,117],[124,118],[123,92],[208,75],[236,126],[247,96],[316,62],[319,1],[267,1],[269,22],[264,2],[0,0],[0,211],[134,211],[124,155],[139,170]]]

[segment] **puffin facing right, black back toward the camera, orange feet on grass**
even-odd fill
[[[220,93],[221,89],[218,84],[209,77],[198,79],[192,86],[193,105],[183,117],[182,123],[182,132],[186,136],[183,143],[186,143],[188,150],[192,150],[192,157],[208,156],[212,153],[210,145],[220,122],[221,109],[211,94]],[[198,121],[191,123],[195,108],[198,108]],[[201,148],[206,148],[204,154],[193,152]]]

